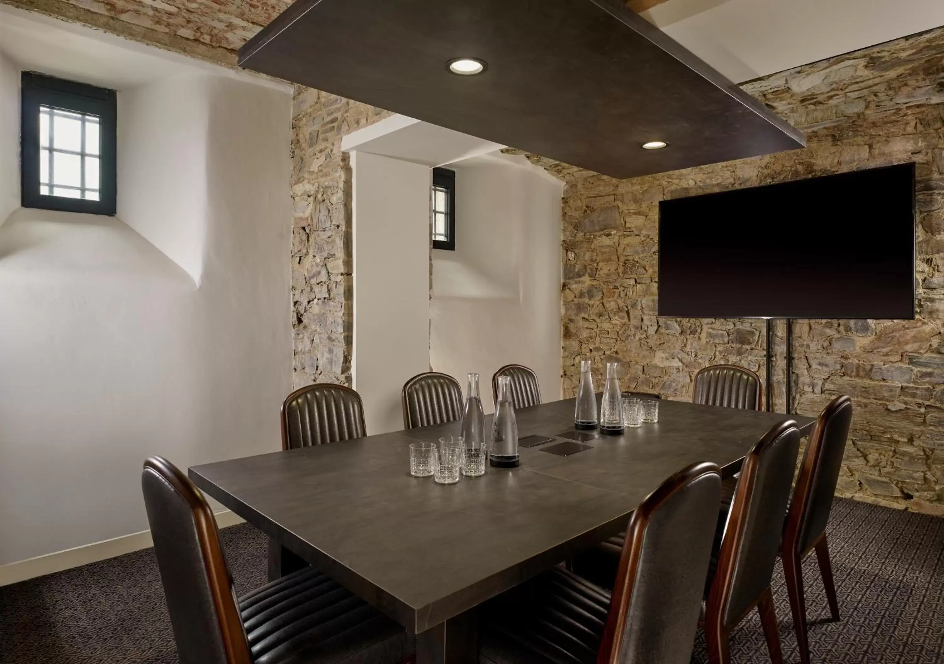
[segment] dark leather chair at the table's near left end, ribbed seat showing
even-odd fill
[[[181,664],[395,664],[406,631],[308,568],[236,598],[210,505],[178,468],[144,462],[144,507]]]

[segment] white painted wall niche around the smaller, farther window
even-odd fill
[[[354,180],[352,373],[368,434],[402,428],[403,383],[430,369],[463,389],[479,373],[487,412],[504,364],[531,366],[544,399],[560,399],[563,184],[503,145],[401,115],[342,145]],[[439,165],[456,171],[456,251],[430,249]]]

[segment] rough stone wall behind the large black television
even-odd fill
[[[917,319],[797,322],[793,405],[817,415],[851,395],[842,495],[944,516],[944,28],[744,87],[803,129],[808,148],[622,181],[532,158],[566,179],[565,393],[575,392],[585,357],[598,366],[617,358],[624,389],[673,399],[689,398],[702,366],[763,375],[761,321],[656,317],[660,199],[917,162]],[[783,332],[781,323],[781,358]],[[783,366],[775,379],[783,411]]]

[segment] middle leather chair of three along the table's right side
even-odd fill
[[[701,625],[712,664],[731,661],[728,637],[757,607],[773,664],[783,655],[770,579],[783,536],[800,430],[787,419],[775,425],[744,458],[720,550],[706,583]]]

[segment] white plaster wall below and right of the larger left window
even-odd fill
[[[0,565],[146,530],[147,455],[279,449],[291,95],[148,85],[119,90],[127,224],[20,210],[0,226]]]

